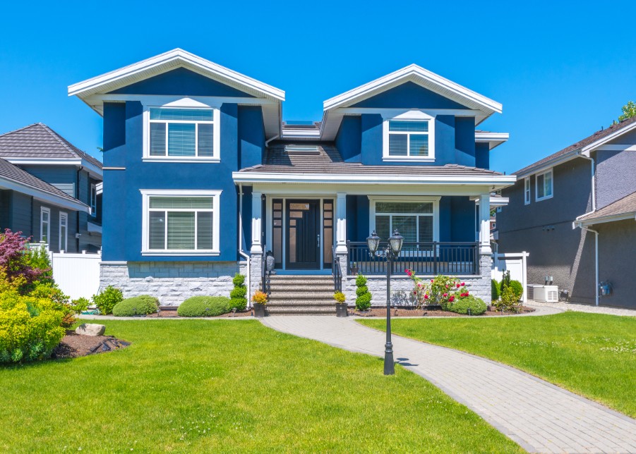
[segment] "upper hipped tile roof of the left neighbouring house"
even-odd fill
[[[0,135],[0,157],[16,164],[27,161],[80,161],[69,164],[88,164],[101,175],[102,163],[68,142],[44,123],[34,123]]]

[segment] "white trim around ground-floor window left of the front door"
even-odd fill
[[[141,222],[141,254],[148,256],[210,256],[210,255],[219,255],[220,252],[220,243],[219,243],[219,228],[220,228],[220,219],[221,219],[221,190],[160,190],[160,189],[141,189],[141,196],[143,199],[143,213],[142,213],[142,222]],[[213,221],[212,221],[212,249],[211,250],[156,250],[150,249],[148,242],[148,212],[149,212],[149,204],[148,200],[151,196],[187,196],[187,197],[214,197],[212,212],[214,213]]]

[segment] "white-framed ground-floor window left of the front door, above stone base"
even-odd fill
[[[142,254],[218,255],[220,190],[141,190]]]

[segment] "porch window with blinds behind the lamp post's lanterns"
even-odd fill
[[[405,243],[433,242],[433,202],[376,202],[376,233],[388,239],[397,228]]]

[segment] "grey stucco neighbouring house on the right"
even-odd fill
[[[497,213],[499,252],[529,252],[528,282],[551,276],[572,302],[636,308],[636,117],[516,175]]]

